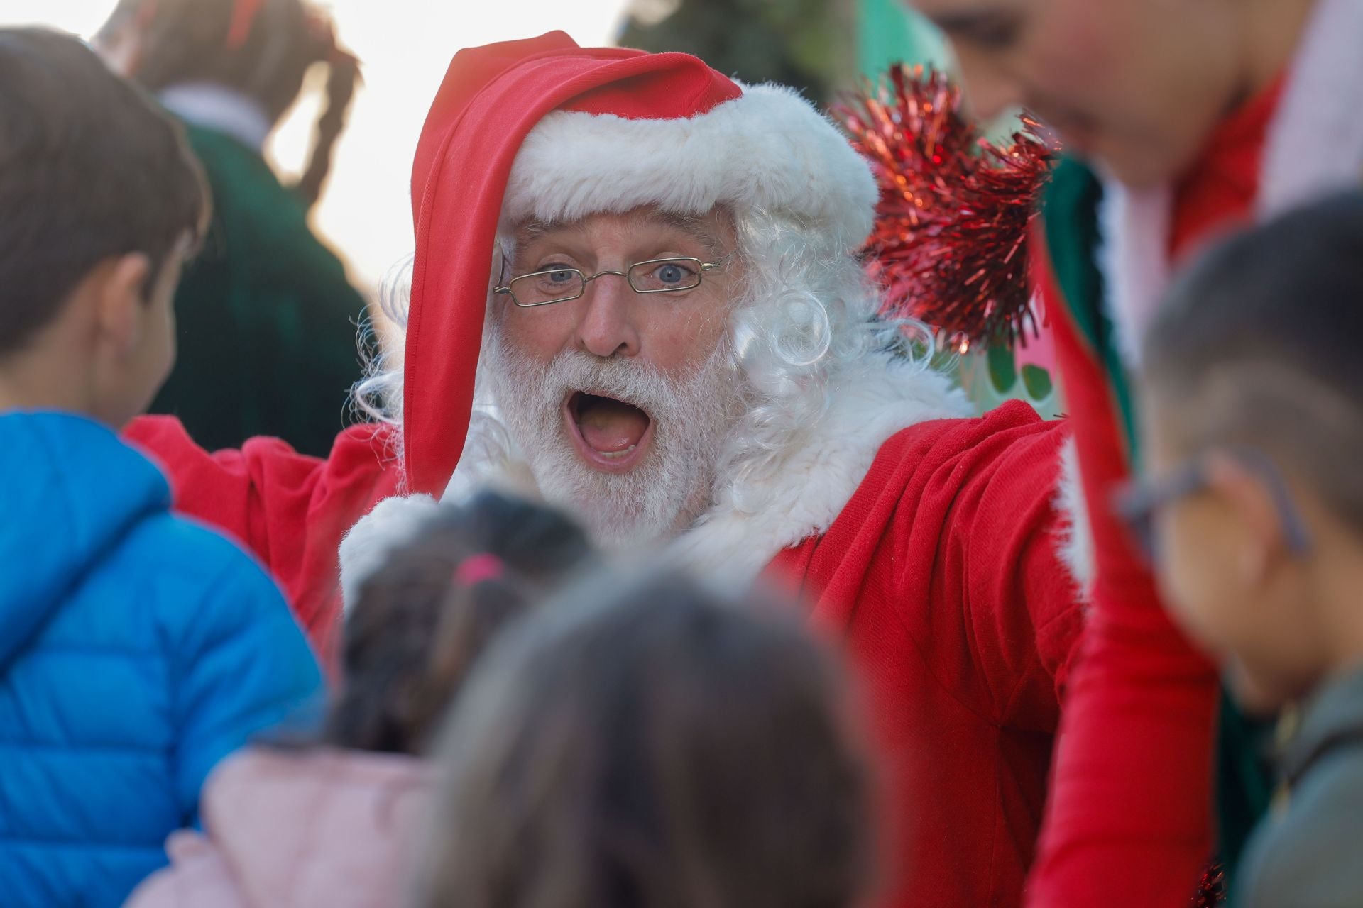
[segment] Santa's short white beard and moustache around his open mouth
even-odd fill
[[[682,378],[620,357],[566,350],[548,366],[507,346],[493,329],[485,351],[497,417],[540,494],[566,508],[604,549],[657,543],[695,521],[713,500],[725,437],[743,412],[741,374],[725,344]],[[563,402],[574,391],[645,410],[653,441],[624,474],[593,470],[574,452]]]

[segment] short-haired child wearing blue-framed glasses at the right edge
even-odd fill
[[[1300,707],[1236,885],[1253,908],[1363,904],[1360,304],[1349,192],[1216,248],[1144,344],[1148,478],[1119,512],[1240,704]]]

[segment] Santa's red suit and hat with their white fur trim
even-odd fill
[[[401,430],[350,429],[327,460],[267,440],[209,455],[165,418],[131,430],[172,474],[184,510],[266,560],[323,645],[342,535],[394,491],[458,485],[468,463],[499,229],[641,204],[752,207],[797,218],[848,256],[870,230],[875,187],[793,93],[737,86],[684,54],[581,49],[556,33],[455,57],[423,132],[413,200]],[[671,545],[701,570],[797,588],[814,622],[845,641],[883,758],[885,904],[1017,905],[1081,622],[1058,555],[1065,427],[1021,403],[965,418],[945,377],[889,348],[811,384],[826,406],[776,456],[720,483]],[[382,535],[383,509],[401,504],[364,527]],[[365,550],[364,527],[348,550]]]

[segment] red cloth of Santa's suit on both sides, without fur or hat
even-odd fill
[[[266,561],[324,647],[337,545],[393,491],[382,438],[352,429],[320,461],[271,440],[209,455],[166,417],[128,434],[184,512]],[[893,830],[882,904],[1020,904],[1082,621],[1055,554],[1063,437],[1021,403],[905,429],[829,531],[770,568],[846,641],[871,694]]]

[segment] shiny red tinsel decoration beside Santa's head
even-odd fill
[[[867,264],[887,314],[927,323],[954,348],[1026,343],[1035,334],[1026,238],[1058,151],[1022,117],[1007,147],[961,110],[961,91],[897,65],[836,105],[880,187]]]

